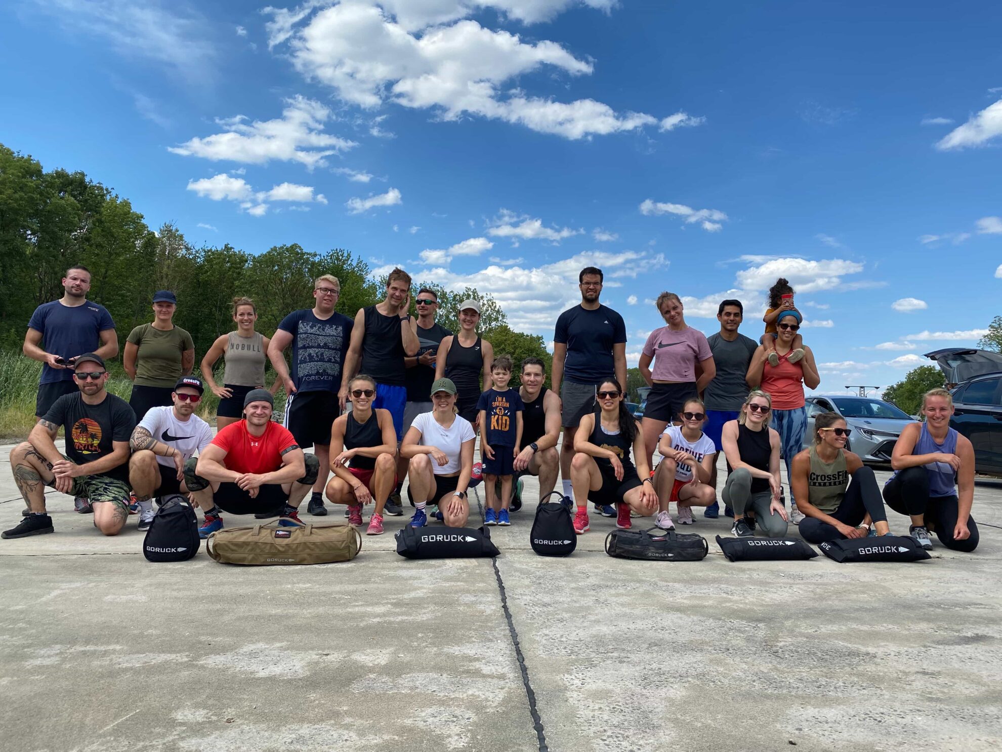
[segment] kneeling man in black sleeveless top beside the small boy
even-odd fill
[[[515,457],[514,463],[516,475],[539,476],[540,500],[553,490],[560,469],[556,450],[560,438],[560,399],[543,386],[545,369],[546,365],[539,358],[522,361],[522,386],[518,396],[525,404],[522,413],[522,446],[525,448]]]

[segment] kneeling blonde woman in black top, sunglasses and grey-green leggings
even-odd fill
[[[787,510],[781,500],[780,434],[769,427],[773,398],[754,389],[737,420],[723,424],[720,444],[730,473],[723,501],[734,511],[730,532],[750,537],[758,524],[770,537],[787,534]]]

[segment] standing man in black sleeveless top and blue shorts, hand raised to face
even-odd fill
[[[408,312],[410,307],[411,276],[403,269],[394,269],[387,278],[386,299],[375,306],[360,308],[355,315],[352,342],[348,347],[344,378],[338,394],[344,409],[348,385],[357,374],[364,373],[376,379],[373,409],[390,411],[398,445],[404,438],[404,408],[407,405],[407,366],[404,360],[416,355],[421,347],[417,322]],[[387,501],[386,513],[394,516],[403,513],[399,489]]]

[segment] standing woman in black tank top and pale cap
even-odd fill
[[[494,348],[487,340],[477,336],[480,323],[480,304],[473,300],[459,304],[459,334],[443,337],[435,360],[435,378],[452,379],[456,385],[456,407],[459,415],[479,430],[477,425],[477,400],[481,392],[491,388],[491,363]],[[484,383],[481,387],[480,376]]]

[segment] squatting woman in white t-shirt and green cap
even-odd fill
[[[473,426],[456,414],[456,385],[451,379],[432,384],[435,409],[418,415],[400,445],[400,454],[411,460],[407,495],[414,502],[412,527],[428,524],[425,505],[438,503],[442,520],[450,527],[464,527],[470,516],[466,488],[473,471]],[[438,515],[436,515],[438,516]]]

